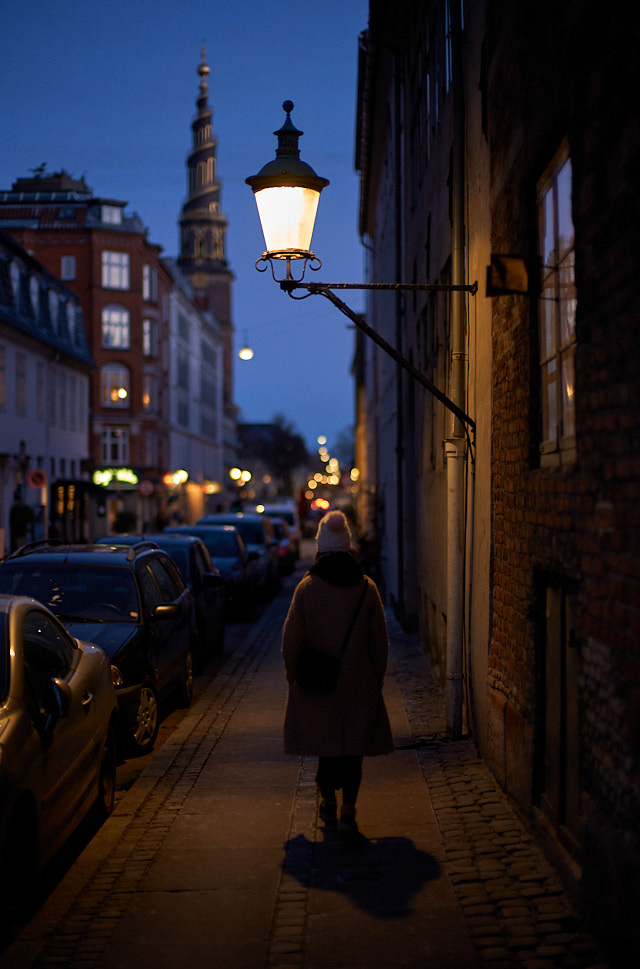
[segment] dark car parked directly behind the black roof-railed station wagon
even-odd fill
[[[226,580],[211,561],[202,539],[195,535],[106,535],[96,544],[136,545],[143,541],[153,542],[171,556],[193,596],[198,629],[194,660],[196,668],[202,669],[207,657],[224,649]]]

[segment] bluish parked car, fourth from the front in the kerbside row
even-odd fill
[[[235,525],[171,525],[165,535],[195,535],[226,580],[228,612],[251,615],[256,604],[256,565]]]

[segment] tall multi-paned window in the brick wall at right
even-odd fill
[[[575,461],[576,288],[571,160],[565,146],[538,186],[543,463]]]

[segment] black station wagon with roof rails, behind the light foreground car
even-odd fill
[[[0,592],[46,605],[72,636],[111,664],[125,745],[149,751],[160,701],[193,695],[193,598],[172,559],[151,542],[130,548],[35,542],[0,562]]]

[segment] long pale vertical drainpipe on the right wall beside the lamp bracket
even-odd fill
[[[451,165],[451,275],[454,285],[465,283],[465,127],[462,75],[460,0],[451,3],[453,146]],[[465,294],[452,293],[450,396],[466,410]],[[466,439],[458,418],[449,418],[445,442],[447,458],[447,683],[446,719],[449,736],[462,735],[464,635],[464,479]]]

